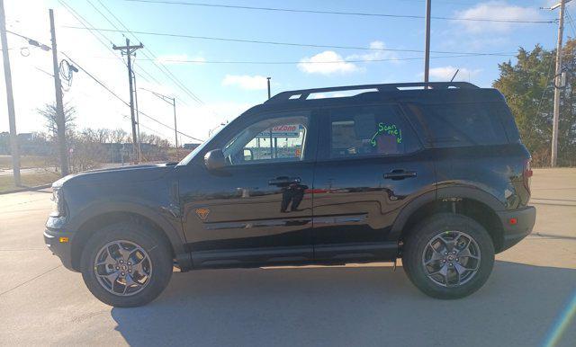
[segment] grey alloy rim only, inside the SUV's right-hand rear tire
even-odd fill
[[[458,287],[480,269],[480,247],[462,231],[445,231],[432,237],[422,252],[428,279],[443,287]]]

